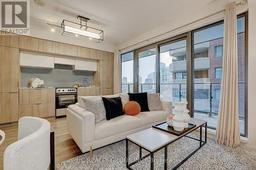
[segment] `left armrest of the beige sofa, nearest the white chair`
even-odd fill
[[[95,115],[77,105],[67,109],[68,132],[84,153],[85,144],[94,141]]]

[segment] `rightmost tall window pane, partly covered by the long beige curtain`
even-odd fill
[[[238,18],[238,81],[240,133],[245,134],[245,16]],[[217,127],[219,112],[223,22],[193,32],[194,40],[194,117]]]

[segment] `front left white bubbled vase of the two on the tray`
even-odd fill
[[[185,128],[184,124],[184,108],[183,108],[183,102],[175,102],[175,108],[174,108],[175,116],[173,118],[173,127],[176,131],[183,131]]]

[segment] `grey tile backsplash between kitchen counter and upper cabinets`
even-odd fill
[[[70,65],[55,65],[54,69],[48,68],[21,68],[22,87],[28,87],[31,78],[44,80],[47,87],[73,87],[74,84],[83,85],[83,79],[87,78],[87,86],[93,85],[93,74],[91,71],[75,71]]]

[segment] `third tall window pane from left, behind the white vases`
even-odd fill
[[[160,45],[160,98],[180,102],[186,98],[186,39]]]

